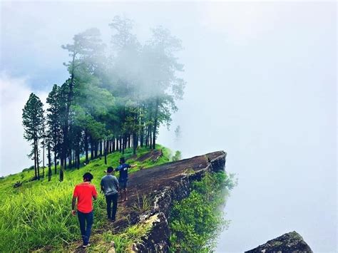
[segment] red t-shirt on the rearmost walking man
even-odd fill
[[[97,196],[96,187],[83,182],[76,185],[73,197],[78,198],[78,211],[88,213],[93,210],[93,196]]]

